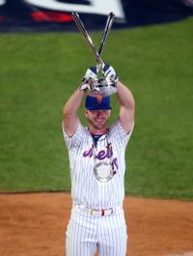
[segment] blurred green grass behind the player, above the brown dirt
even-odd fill
[[[126,194],[193,199],[192,26],[189,18],[109,34],[102,58],[136,100]],[[101,32],[91,35],[99,45]],[[78,33],[1,34],[0,58],[0,190],[69,190],[62,109],[94,65],[92,50]]]

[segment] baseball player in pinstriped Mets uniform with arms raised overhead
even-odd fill
[[[124,152],[134,126],[135,103],[111,66],[102,65],[102,73],[111,81],[108,86],[98,83],[96,67],[92,67],[64,106],[63,133],[69,150],[72,197],[67,256],[93,256],[96,250],[100,256],[126,254]],[[77,110],[86,93],[88,127],[83,127]],[[120,113],[109,127],[112,93],[117,94]]]

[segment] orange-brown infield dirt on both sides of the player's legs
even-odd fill
[[[0,195],[0,255],[64,256],[68,193]],[[193,202],[126,198],[127,256],[193,256]],[[77,255],[78,256],[78,255]]]

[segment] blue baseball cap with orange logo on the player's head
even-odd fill
[[[88,110],[109,110],[112,109],[110,105],[110,97],[96,98],[93,96],[87,96],[85,100],[85,108]]]

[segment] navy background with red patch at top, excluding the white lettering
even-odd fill
[[[61,2],[69,1],[61,0]],[[71,0],[70,3],[86,5],[89,2]],[[124,22],[115,20],[114,29],[173,22],[193,14],[192,0],[122,0],[122,3],[125,20]],[[80,14],[80,16],[90,30],[100,29],[106,20],[106,16],[100,14]],[[22,0],[7,0],[5,5],[0,6],[0,32],[71,30],[76,30],[76,27],[68,12],[37,8]]]

